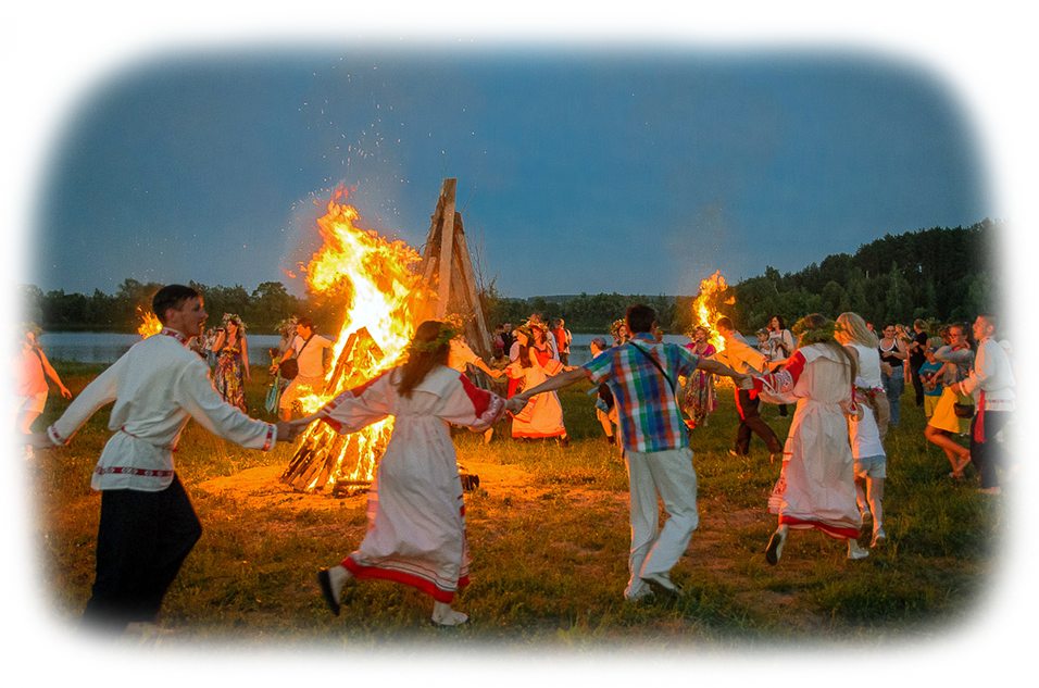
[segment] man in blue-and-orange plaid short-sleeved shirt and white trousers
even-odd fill
[[[629,308],[626,322],[635,333],[627,343],[604,351],[583,367],[548,378],[518,400],[585,379],[610,386],[621,421],[631,498],[630,577],[624,597],[635,602],[653,591],[681,593],[671,580],[671,570],[689,546],[700,520],[692,450],[675,399],[678,376],[701,370],[731,377],[738,385],[750,378],[678,345],[656,343],[651,334],[656,312],[648,305]],[[668,516],[663,529],[658,526],[658,495]]]

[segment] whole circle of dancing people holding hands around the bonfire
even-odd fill
[[[721,351],[712,351],[709,333],[699,329],[687,346],[663,342],[655,311],[639,304],[628,309],[624,322],[613,328],[615,346],[594,340],[594,358],[580,366],[560,361],[561,335],[540,318],[531,318],[516,328],[513,342],[504,341],[504,329],[499,333],[503,341],[496,359],[503,358],[508,343],[511,362],[493,368],[478,356],[474,360],[452,323],[428,321],[418,326],[399,366],[342,391],[316,413],[297,421],[286,418],[286,406],[278,403],[283,420],[270,424],[246,415],[234,395],[218,392],[204,360],[188,349],[188,341],[202,335],[206,318],[202,297],[193,288],[160,289],[152,310],[163,326],[160,334],[130,348],[87,385],[43,433],[26,434],[36,416],[28,423],[20,416],[27,404],[21,398],[36,399],[39,393],[46,398],[46,391],[22,386],[23,370],[33,368],[36,383],[42,374],[49,375],[63,396],[71,395],[38,350],[38,332],[27,326],[16,329],[0,358],[0,368],[9,368],[15,380],[11,397],[16,398],[13,411],[9,402],[2,445],[68,445],[95,412],[114,402],[109,424],[113,435],[91,479],[91,488],[102,495],[97,577],[79,625],[63,648],[67,658],[87,668],[99,668],[104,652],[123,634],[166,633],[157,624],[162,599],[201,536],[173,460],[190,417],[224,439],[260,450],[270,450],[275,441],[292,441],[315,421],[349,434],[395,417],[370,491],[370,527],[354,551],[317,576],[321,593],[335,614],[347,584],[387,579],[429,595],[435,625],[466,623],[467,615],[453,606],[458,591],[468,584],[470,556],[449,424],[486,433],[509,413],[514,436],[518,421],[518,437],[528,433],[565,443],[555,392],[576,383],[590,381],[600,401],[605,389],[610,402],[600,409],[600,420],[606,435],[615,436],[624,450],[631,526],[626,600],[683,595],[671,571],[699,524],[689,431],[705,424],[715,408],[714,376],[731,378],[736,389],[740,425],[731,453],[746,456],[751,434],[758,434],[773,460],[781,460],[768,498],[768,509],[778,522],[764,549],[769,564],[781,559],[791,530],[816,529],[844,540],[851,560],[869,553],[858,542],[864,521],[873,522],[871,547],[886,540],[882,426],[888,417],[890,425],[897,425],[899,416],[891,398],[898,386],[886,385],[897,379],[896,366],[885,356],[904,360],[892,352],[909,351],[910,346],[904,341],[900,346],[900,339],[886,345],[885,340],[902,337],[900,329],[885,327],[885,338],[878,339],[854,313],[843,313],[836,322],[810,314],[791,328],[793,343],[785,342],[785,323],[774,318],[762,338],[768,351],[763,353],[748,346],[726,317],[716,323],[725,339]],[[555,330],[565,333],[563,324],[558,325]],[[988,495],[1000,493],[997,467],[1007,480],[1021,470],[998,439],[1022,393],[1019,366],[1010,358],[1010,343],[996,340],[999,327],[998,317],[982,313],[971,327],[973,339],[964,324],[954,324],[943,346],[927,339],[913,347],[922,350],[924,360],[914,367],[921,377],[922,405],[929,411],[927,439],[946,451],[954,478],[962,478],[969,461],[981,491]],[[304,372],[313,372],[310,364],[315,360],[322,365],[322,352],[328,347],[318,342],[311,359],[304,359],[315,337],[313,324],[305,318],[296,323],[296,333],[284,335],[290,343],[280,351],[281,358],[299,359],[293,383],[309,377]],[[217,337],[223,339],[215,347],[218,355],[227,347],[245,350],[245,326],[235,316],[225,316],[224,336]],[[775,354],[777,349],[783,358]],[[463,367],[472,364],[492,378],[508,375],[511,384],[524,388],[513,388],[508,399],[480,389],[458,370],[459,360]],[[46,390],[46,381],[42,386]],[[761,420],[761,401],[794,404],[785,445]],[[542,409],[541,415],[530,412],[525,418],[531,408]],[[684,409],[693,411],[692,423],[683,416]],[[12,415],[14,426],[8,428]],[[954,424],[950,418],[955,418]],[[962,430],[968,418],[971,446],[966,449],[952,440],[952,434]],[[13,429],[21,434],[12,434]],[[663,526],[659,502],[668,516]]]

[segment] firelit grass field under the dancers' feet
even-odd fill
[[[60,364],[74,393],[98,366]],[[263,371],[250,408],[261,409]],[[1039,436],[1039,368],[1025,371],[1026,427]],[[903,396],[888,438],[887,543],[850,562],[842,543],[793,533],[779,565],[763,550],[775,516],[767,495],[779,466],[754,439],[727,452],[731,397],[692,437],[700,529],[673,577],[677,602],[630,604],[627,479],[601,438],[592,398],[563,395],[573,441],[513,443],[456,435],[473,466],[515,473],[515,486],[466,496],[473,584],[455,606],[472,623],[428,624],[430,601],[389,583],[351,584],[333,617],[315,573],[349,553],[365,529],[364,500],[291,495],[239,500],[206,480],[284,465],[291,448],[239,449],[189,424],[178,473],[204,535],[170,589],[161,639],[124,636],[101,678],[125,685],[699,685],[781,686],[881,681],[918,685],[928,672],[1002,685],[1039,673],[1039,498],[1036,441],[1018,443],[1018,480],[1002,497],[946,477],[944,455],[923,438],[922,411]],[[35,429],[67,405],[52,395]],[[766,408],[784,437],[789,420]],[[60,656],[93,579],[100,497],[90,472],[109,436],[99,412],[70,447],[16,462],[0,450],[0,683],[59,684],[87,674]],[[508,426],[499,426],[499,435]],[[489,470],[489,468],[488,468]],[[478,470],[477,470],[478,473]],[[314,506],[318,504],[321,508]],[[863,545],[868,537],[863,536]],[[1027,685],[1027,677],[1017,685]],[[1035,681],[1035,678],[1031,678]],[[937,685],[937,684],[936,684]]]

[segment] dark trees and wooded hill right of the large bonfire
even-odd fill
[[[562,317],[572,329],[604,332],[628,305],[656,309],[666,333],[688,332],[694,297],[581,293],[572,298],[508,299],[485,293],[491,323],[522,323],[530,313]],[[735,297],[735,299],[734,299]],[[725,302],[733,300],[731,304]],[[716,310],[743,333],[773,315],[788,324],[808,313],[836,317],[854,311],[868,322],[949,323],[992,312],[1013,336],[1014,355],[1039,361],[1039,225],[1027,217],[984,220],[969,227],[934,227],[885,235],[850,255],[829,255],[797,273],[744,279],[717,295]]]

